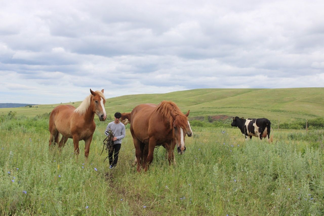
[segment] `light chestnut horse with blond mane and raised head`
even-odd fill
[[[73,138],[74,152],[79,154],[79,141],[85,141],[84,155],[88,157],[90,143],[93,132],[96,129],[95,114],[98,115],[100,121],[105,121],[107,118],[105,110],[105,96],[103,90],[92,91],[91,94],[84,99],[78,108],[75,109],[71,105],[59,105],[55,107],[50,115],[50,141],[52,145],[53,139],[55,143],[59,141],[59,134],[62,134],[62,139],[59,143],[59,148],[64,147],[68,138]]]

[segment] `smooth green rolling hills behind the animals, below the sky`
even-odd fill
[[[228,115],[244,118],[265,117],[288,122],[324,116],[324,88],[294,89],[194,89],[165,94],[137,94],[108,98],[105,104],[107,115],[115,112],[130,112],[141,103],[175,102],[183,112],[189,109],[190,117]],[[87,95],[85,95],[86,97]],[[81,101],[71,104],[77,107]],[[18,116],[33,117],[49,113],[60,104],[33,107],[1,108],[0,114],[9,111]]]

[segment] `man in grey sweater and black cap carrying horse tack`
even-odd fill
[[[116,167],[117,165],[118,154],[119,150],[121,149],[121,139],[125,138],[125,125],[120,122],[121,113],[117,112],[114,116],[115,120],[110,122],[105,130],[108,131],[110,129],[114,133],[114,138],[112,138],[114,141],[113,149],[108,155],[110,169]],[[113,159],[112,155],[114,155]]]

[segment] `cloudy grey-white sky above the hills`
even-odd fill
[[[324,1],[0,0],[0,103],[324,87]]]

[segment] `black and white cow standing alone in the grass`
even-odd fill
[[[246,140],[248,140],[248,137],[252,139],[253,136],[253,137],[259,137],[260,139],[267,138],[269,142],[272,142],[273,135],[270,138],[270,129],[272,130],[272,128],[269,119],[266,118],[244,119],[236,116],[233,117],[233,122],[231,126],[238,127],[241,130],[242,134],[245,136]]]

